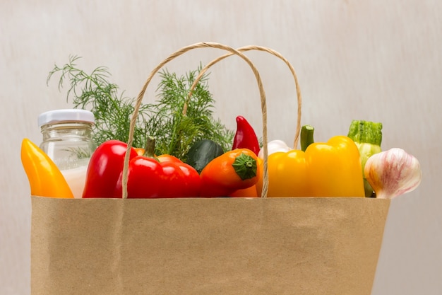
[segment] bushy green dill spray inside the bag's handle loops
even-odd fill
[[[232,148],[234,137],[232,130],[213,117],[215,100],[208,90],[207,74],[198,81],[189,98],[191,85],[199,71],[201,66],[185,76],[177,76],[167,70],[160,72],[158,102],[150,106],[153,112],[147,127],[148,132],[156,139],[157,150],[184,161],[196,141],[212,139],[227,151]],[[183,114],[185,104],[187,109],[186,114]]]

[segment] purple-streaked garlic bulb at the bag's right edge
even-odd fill
[[[422,170],[419,161],[399,148],[381,151],[365,164],[366,180],[380,199],[393,199],[419,186]]]

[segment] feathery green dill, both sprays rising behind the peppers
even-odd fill
[[[90,110],[95,115],[94,139],[97,145],[109,139],[128,141],[135,98],[119,95],[119,87],[109,82],[109,69],[97,67],[90,74],[78,69],[71,56],[62,67],[54,66],[47,83],[59,73],[59,89],[69,81],[66,100],[71,98],[74,108]],[[201,66],[185,76],[165,70],[160,72],[157,102],[142,104],[139,110],[133,146],[144,147],[148,136],[155,137],[155,154],[171,154],[185,159],[190,146],[201,139],[212,139],[227,151],[231,148],[234,132],[213,117],[214,102],[208,90],[208,76],[203,76],[191,98],[190,87]],[[187,103],[186,114],[183,114]]]

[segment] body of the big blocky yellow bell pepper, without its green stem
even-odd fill
[[[268,197],[365,196],[359,150],[345,136],[271,154],[268,180]]]

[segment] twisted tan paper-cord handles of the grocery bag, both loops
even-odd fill
[[[233,54],[236,54],[237,56],[241,57],[241,59],[244,59],[245,62],[247,62],[247,64],[249,64],[249,66],[251,67],[254,76],[256,77],[256,82],[258,83],[258,90],[259,90],[259,94],[260,94],[260,98],[261,98],[261,114],[262,114],[262,125],[263,125],[263,142],[267,143],[268,142],[268,136],[267,136],[267,105],[266,105],[266,101],[265,101],[265,91],[263,88],[263,83],[261,81],[261,76],[259,75],[258,69],[256,69],[256,66],[251,62],[251,60],[246,57],[246,55],[244,55],[241,51],[247,51],[247,50],[261,50],[261,51],[265,51],[265,52],[269,52],[273,55],[275,55],[276,57],[280,57],[280,59],[282,59],[287,66],[289,66],[290,71],[292,72],[292,75],[294,76],[294,81],[297,87],[297,101],[298,101],[298,121],[297,121],[297,131],[295,132],[295,139],[294,139],[294,148],[297,146],[297,140],[299,138],[299,130],[300,130],[300,120],[301,120],[301,92],[299,90],[299,84],[297,81],[297,75],[294,72],[294,69],[292,67],[291,64],[289,64],[289,62],[287,61],[287,59],[285,59],[284,57],[282,57],[281,54],[279,54],[278,52],[275,52],[274,50],[270,50],[268,48],[265,47],[259,47],[259,46],[249,46],[249,47],[241,47],[238,50],[235,50],[233,47],[229,47],[227,45],[223,45],[221,43],[217,43],[217,42],[199,42],[193,45],[189,45],[186,47],[182,47],[180,50],[177,50],[176,52],[172,53],[169,55],[169,57],[167,57],[166,59],[164,59],[160,64],[158,64],[155,69],[153,69],[153,71],[150,72],[150,75],[148,76],[148,79],[146,79],[143,88],[141,88],[140,93],[138,93],[138,96],[136,98],[136,104],[133,110],[133,114],[131,117],[131,122],[130,122],[130,129],[129,129],[129,139],[127,142],[127,151],[126,151],[126,156],[124,157],[124,167],[123,167],[123,175],[122,175],[122,191],[123,191],[123,199],[127,198],[127,183],[128,183],[128,170],[129,170],[129,158],[130,158],[130,150],[133,146],[133,133],[135,130],[135,126],[136,126],[136,120],[138,117],[138,111],[141,107],[141,103],[143,101],[143,96],[145,94],[146,89],[148,88],[148,85],[150,83],[150,81],[153,79],[153,76],[155,76],[155,74],[160,71],[160,69],[165,66],[165,64],[167,64],[168,62],[172,61],[172,59],[179,57],[181,54],[184,54],[186,52],[188,52],[189,50],[193,50],[196,48],[204,48],[204,47],[211,47],[211,48],[217,48],[217,49],[221,49],[221,50],[226,50],[228,52],[230,52],[229,54],[225,54],[222,57],[218,57],[217,59],[214,59],[212,62],[210,62],[210,64],[208,64],[207,66],[205,66],[204,71],[201,71],[200,74],[198,75],[198,77],[196,78],[196,80],[194,81],[194,85],[191,87],[191,91],[189,92],[189,98],[191,96],[191,92],[193,91],[193,89],[196,86],[196,83],[198,83],[198,81],[201,79],[201,77],[203,76],[203,73],[205,71],[207,71],[207,69],[212,66],[213,64],[215,64],[216,62],[219,62],[222,59],[225,59],[226,57],[229,57]],[[184,112],[186,112],[186,110],[184,109]],[[267,197],[267,192],[268,192],[268,147],[267,144],[263,145],[263,188],[262,188],[262,192],[261,192],[261,197]]]

